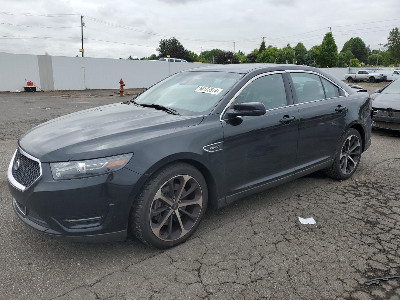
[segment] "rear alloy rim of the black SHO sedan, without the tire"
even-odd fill
[[[353,172],[360,158],[360,140],[355,135],[351,135],[344,141],[342,151],[340,152],[340,169],[343,174]]]

